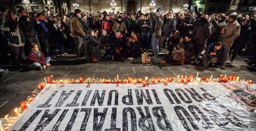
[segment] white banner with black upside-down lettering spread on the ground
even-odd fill
[[[243,83],[47,84],[11,130],[256,130],[254,93]]]

